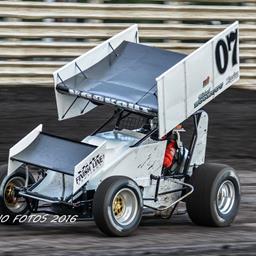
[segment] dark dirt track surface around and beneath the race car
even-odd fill
[[[230,89],[205,108],[210,117],[207,159],[232,165],[242,202],[229,228],[193,225],[186,214],[144,220],[129,238],[108,238],[93,222],[0,226],[0,255],[256,255],[256,91]],[[8,149],[43,123],[45,131],[81,139],[109,109],[58,122],[52,89],[0,89],[0,162]]]

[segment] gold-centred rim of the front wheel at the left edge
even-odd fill
[[[15,191],[16,187],[23,187],[25,185],[25,179],[22,177],[13,177],[10,179],[4,191],[4,202],[6,207],[14,213],[19,213],[25,210],[27,203],[24,198],[18,197]]]

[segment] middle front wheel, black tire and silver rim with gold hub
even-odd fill
[[[142,216],[142,195],[128,177],[104,180],[95,192],[93,216],[102,232],[110,236],[128,236],[135,231]]]

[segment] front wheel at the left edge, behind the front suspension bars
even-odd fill
[[[28,184],[35,182],[29,175]],[[17,215],[29,215],[30,209],[37,206],[36,200],[26,200],[17,193],[17,189],[26,184],[26,172],[19,168],[15,173],[7,176],[7,165],[0,167],[0,215],[9,216],[3,224],[19,224]]]

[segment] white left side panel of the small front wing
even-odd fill
[[[26,147],[28,147],[40,134],[43,129],[43,125],[38,125],[33,131],[31,131],[28,135],[26,135],[22,140],[16,143],[9,151],[9,160],[8,160],[8,175],[12,174],[16,171],[22,163],[18,161],[11,160],[11,157],[23,151]]]

